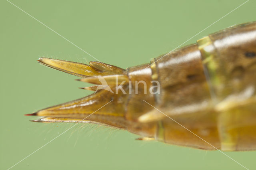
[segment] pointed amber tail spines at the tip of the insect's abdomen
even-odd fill
[[[126,105],[124,101],[128,97],[126,70],[98,61],[92,61],[90,65],[86,65],[59,59],[39,58],[38,62],[82,77],[80,79],[82,82],[96,84],[96,86],[82,88],[96,92],[81,99],[27,114],[26,116],[43,117],[32,122],[99,123],[116,128],[126,127],[124,109]],[[122,93],[124,89],[126,92]]]

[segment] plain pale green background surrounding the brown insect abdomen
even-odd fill
[[[12,0],[102,62],[119,67],[148,63],[185,42],[245,0],[35,1]],[[256,20],[250,0],[186,44],[234,24]],[[0,169],[8,169],[72,123],[33,123],[39,109],[90,94],[77,77],[36,62],[51,57],[95,61],[6,0],[0,2]],[[124,130],[79,124],[16,166],[22,169],[243,169],[218,151],[134,140]],[[249,169],[256,152],[226,152]]]

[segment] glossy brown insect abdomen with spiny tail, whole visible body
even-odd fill
[[[256,22],[126,70],[97,61],[38,61],[97,86],[84,88],[92,95],[30,114],[42,116],[36,122],[98,123],[145,140],[256,150]]]

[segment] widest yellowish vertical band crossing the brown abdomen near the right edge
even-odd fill
[[[214,96],[212,100],[216,104],[216,111],[219,113],[217,125],[221,142],[221,150],[236,150],[237,134],[229,129],[230,125],[232,125],[232,114],[227,111],[227,109],[234,104],[232,103],[234,101],[231,99],[223,101],[222,99],[222,91],[224,88],[223,83],[225,80],[222,79],[224,73],[220,71],[221,61],[219,61],[218,56],[216,56],[216,49],[209,36],[198,40],[197,43],[198,49],[202,55],[202,63],[204,64],[206,71],[206,79],[208,81],[210,91],[213,92],[213,95],[211,94],[211,96]],[[217,98],[215,97],[216,95]]]

